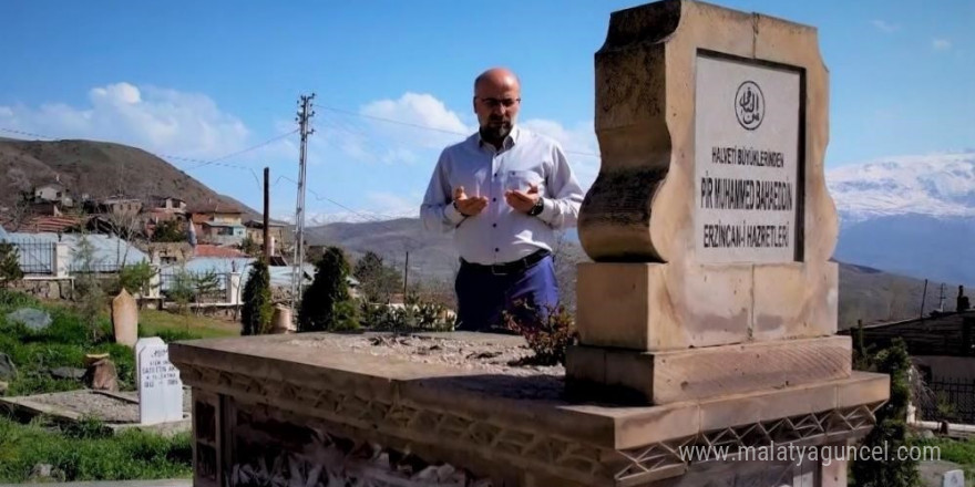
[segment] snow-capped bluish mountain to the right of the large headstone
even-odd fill
[[[835,258],[975,284],[975,151],[892,157],[827,173]]]

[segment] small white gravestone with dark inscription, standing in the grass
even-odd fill
[[[135,344],[138,367],[138,422],[168,423],[183,419],[183,381],[170,362],[170,348],[158,338]]]

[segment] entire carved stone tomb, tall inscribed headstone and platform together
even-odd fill
[[[834,335],[815,31],[650,3],[612,14],[596,81],[565,369],[476,333],[174,343],[195,485],[845,486],[817,449],[866,435],[890,381]]]

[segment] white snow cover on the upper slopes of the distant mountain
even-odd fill
[[[890,157],[827,173],[844,226],[878,217],[975,217],[975,151]]]

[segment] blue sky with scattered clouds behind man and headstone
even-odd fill
[[[507,65],[521,121],[562,141],[588,184],[593,54],[609,13],[639,3],[8,0],[0,128],[179,156],[167,159],[253,208],[269,166],[273,213],[288,217],[296,134],[222,157],[294,131],[298,95],[315,92],[309,215],[410,215],[440,147],[475,125],[472,79]],[[719,3],[819,29],[829,167],[975,148],[975,1]]]

